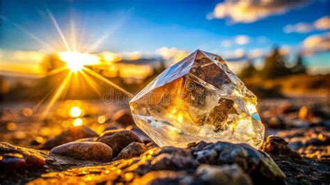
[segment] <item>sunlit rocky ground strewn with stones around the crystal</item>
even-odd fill
[[[328,100],[261,101],[260,150],[221,141],[159,148],[120,107],[81,102],[79,127],[58,110],[40,122],[10,107],[1,112],[0,184],[329,184]]]

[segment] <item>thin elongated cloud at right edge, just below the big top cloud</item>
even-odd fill
[[[315,30],[330,29],[330,16],[324,16],[313,23],[299,22],[297,24],[288,24],[283,28],[285,33],[308,33]]]

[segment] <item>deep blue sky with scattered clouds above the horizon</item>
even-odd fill
[[[187,52],[203,49],[225,58],[249,58],[252,51],[262,56],[274,46],[283,47],[283,51],[287,50],[292,56],[308,47],[310,52],[306,52],[306,63],[309,66],[329,67],[330,63],[327,47],[329,28],[327,25],[323,25],[323,29],[313,27],[318,19],[329,15],[330,2],[324,0],[295,0],[291,3],[274,0],[274,4],[262,6],[262,2],[249,3],[249,0],[244,5],[234,1],[175,0],[1,2],[0,49],[3,51],[45,51],[45,46],[31,35],[57,50],[65,50],[49,18],[48,8],[69,42],[72,40],[70,19],[77,27],[74,34],[81,45],[89,47],[104,36],[94,52],[139,51],[153,54],[157,49],[166,47]],[[249,10],[246,16],[234,13],[241,6]],[[225,11],[221,12],[222,7]],[[299,23],[306,24],[302,26],[305,26],[303,31],[296,25]],[[288,24],[291,28],[296,27],[285,31],[285,26],[290,27]],[[239,35],[243,39],[241,44],[237,44]],[[308,42],[312,43],[309,46],[306,39],[313,36],[323,39],[322,45],[326,46],[315,49],[314,42]]]

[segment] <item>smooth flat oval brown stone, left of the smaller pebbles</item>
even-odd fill
[[[100,142],[71,142],[54,147],[50,152],[86,161],[110,162],[112,159],[111,147]]]

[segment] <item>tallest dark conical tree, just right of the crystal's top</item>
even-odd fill
[[[261,76],[265,79],[274,79],[292,74],[288,67],[285,67],[285,57],[280,54],[276,47],[272,53],[267,56],[265,66],[261,70]]]

